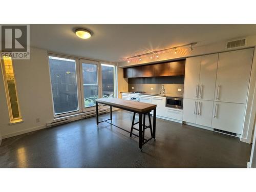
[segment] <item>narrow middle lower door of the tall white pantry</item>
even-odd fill
[[[211,126],[214,101],[198,100],[196,124]]]

